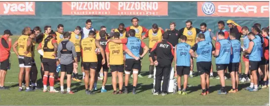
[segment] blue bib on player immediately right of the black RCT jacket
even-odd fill
[[[176,63],[177,66],[191,66],[191,46],[187,43],[179,43],[176,45]]]

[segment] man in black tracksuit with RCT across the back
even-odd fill
[[[160,92],[160,85],[163,77],[161,93],[162,95],[166,95],[174,51],[172,44],[167,41],[169,34],[165,32],[162,37],[162,41],[155,43],[154,47],[152,48],[151,55],[154,64],[156,65],[154,94],[158,94]],[[154,56],[156,56],[156,59]]]

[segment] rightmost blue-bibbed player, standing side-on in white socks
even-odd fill
[[[257,27],[258,28],[258,27]],[[261,61],[261,41],[259,38],[255,37],[255,33],[249,32],[248,38],[251,40],[249,42],[248,49],[243,49],[245,53],[249,53],[249,70],[250,70],[250,86],[245,88],[249,91],[258,91],[258,69]]]

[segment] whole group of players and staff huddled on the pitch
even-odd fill
[[[36,44],[38,44],[37,50],[41,59],[43,92],[59,92],[54,89],[54,82],[60,81],[60,92],[73,94],[71,80],[81,81],[77,71],[78,62],[81,61],[86,94],[94,94],[97,90],[98,76],[103,80],[101,92],[107,92],[105,85],[109,69],[112,73],[113,94],[129,92],[128,82],[131,73],[132,93],[137,94],[138,77],[142,77],[140,75],[141,60],[148,52],[150,60],[148,78],[155,76],[156,82],[160,82],[162,76],[164,76],[163,80],[168,79],[169,71],[167,70],[174,61],[175,77],[178,77],[177,94],[187,94],[188,77],[193,78],[193,58],[196,58],[197,74],[201,79],[201,95],[209,93],[209,79],[213,79],[212,55],[216,58],[216,70],[219,75],[217,79],[221,82],[218,94],[227,94],[225,88],[225,79],[229,77],[227,68],[232,86],[229,93],[238,92],[239,80],[241,82],[250,80],[250,86],[245,88],[249,91],[258,91],[260,88],[269,86],[269,27],[261,30],[261,25],[255,24],[249,32],[248,27],[240,27],[232,20],[228,20],[227,25],[230,31],[227,31],[225,23],[219,21],[219,31],[214,34],[205,23],[200,24],[200,29],[192,27],[192,21],[187,21],[186,27],[180,30],[175,29],[174,22],[170,23],[170,29],[166,30],[158,27],[157,24],[153,24],[151,29],[139,26],[139,19],[136,17],[132,18],[131,22],[132,26],[125,27],[121,23],[109,34],[105,26],[100,27],[100,30],[94,29],[91,20],[86,20],[85,27],[77,26],[74,31],[64,31],[62,24],[57,26],[55,32],[51,30],[51,26],[45,26],[43,33],[40,27],[34,27],[33,30],[25,27],[22,35],[13,45],[9,38],[12,33],[10,30],[5,30],[0,41],[0,89],[9,89],[4,86],[4,80],[6,71],[10,67],[11,47],[19,60],[19,91],[24,90],[24,84],[27,92],[39,89],[37,86],[38,69],[34,55]],[[145,34],[142,35],[143,33]],[[243,44],[241,45],[242,36]],[[148,46],[143,41],[145,38],[149,38]],[[215,46],[212,40],[215,41]],[[163,41],[166,45],[159,44]],[[157,45],[161,49],[157,49]],[[168,46],[172,49],[171,53],[160,54],[159,51]],[[241,74],[241,53],[243,53],[245,67],[243,75]],[[157,68],[157,66],[169,66],[169,68],[156,69],[157,73],[153,75],[154,67]],[[59,72],[61,72],[60,77],[58,77]],[[183,89],[181,89],[182,76],[184,76]],[[65,77],[67,77],[67,91],[64,91]],[[49,82],[49,89],[47,82]],[[162,86],[167,85],[168,82],[164,82]],[[160,83],[155,85],[154,89],[154,95],[160,92],[162,95],[167,94],[166,87],[160,90]]]

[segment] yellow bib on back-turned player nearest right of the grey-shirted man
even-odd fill
[[[96,50],[96,39],[95,38],[85,38],[81,40],[81,49],[82,49],[82,60],[83,62],[97,62]]]

